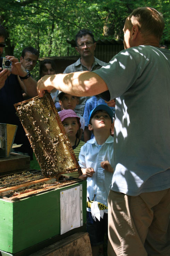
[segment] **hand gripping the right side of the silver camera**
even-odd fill
[[[27,75],[27,72],[25,71],[24,67],[21,65],[21,63],[18,61],[17,58],[14,56],[6,56],[7,60],[10,60],[12,62],[11,65],[11,73],[14,75],[18,75],[21,77],[24,77]]]

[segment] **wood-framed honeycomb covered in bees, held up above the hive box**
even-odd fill
[[[82,173],[50,93],[14,105],[45,177]]]

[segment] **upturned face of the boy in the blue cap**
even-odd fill
[[[96,111],[91,119],[91,122],[92,124],[88,125],[88,129],[90,131],[103,128],[109,131],[111,129],[111,118],[109,114],[104,110]]]

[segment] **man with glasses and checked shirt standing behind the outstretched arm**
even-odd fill
[[[94,57],[96,42],[91,31],[82,29],[76,34],[76,51],[80,54],[80,58],[73,64],[69,65],[64,74],[76,71],[93,71],[101,68],[106,63]],[[86,101],[90,97],[80,97],[79,104],[75,108],[75,112],[81,116],[84,114]],[[58,101],[56,97],[56,101]],[[58,107],[58,106],[57,106]]]

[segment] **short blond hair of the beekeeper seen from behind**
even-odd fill
[[[137,25],[139,30],[148,37],[154,35],[159,40],[164,30],[163,15],[151,7],[141,7],[133,10],[129,15],[132,26]]]

